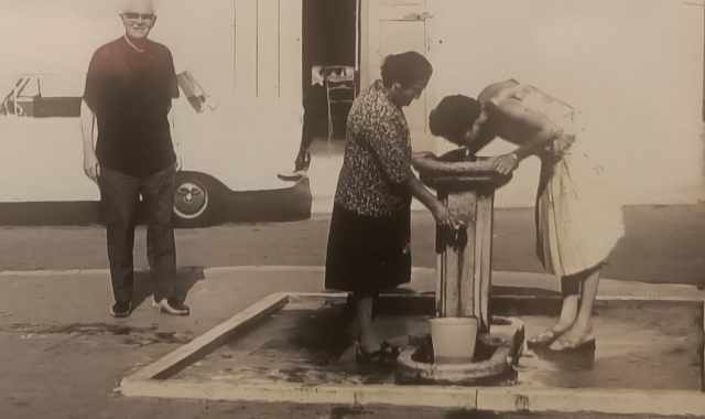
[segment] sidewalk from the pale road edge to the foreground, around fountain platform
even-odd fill
[[[147,282],[138,275],[138,283]],[[140,282],[141,281],[141,282]],[[108,315],[112,302],[106,270],[0,272],[0,417],[2,418],[154,418],[301,417],[333,418],[329,406],[213,404],[194,400],[126,398],[113,389],[140,366],[187,343],[235,313],[278,291],[319,291],[322,267],[183,268],[193,314],[175,318],[150,305],[145,289],[129,319]],[[535,273],[498,271],[497,286],[556,290],[557,281]],[[434,271],[416,268],[415,291],[434,289]],[[603,280],[600,296],[705,298],[692,286]],[[406,409],[369,417],[403,418]],[[414,408],[417,417],[425,410]],[[430,410],[433,418],[447,412]],[[245,416],[240,416],[245,415]],[[293,415],[293,416],[292,416]],[[297,416],[300,415],[300,416]],[[379,415],[379,416],[377,416]],[[516,416],[514,416],[516,417]]]

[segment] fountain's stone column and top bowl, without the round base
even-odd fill
[[[463,158],[455,151],[414,159],[421,180],[463,223],[455,232],[436,228],[436,316],[474,316],[479,333],[489,333],[495,191],[511,176],[497,173],[487,160]]]

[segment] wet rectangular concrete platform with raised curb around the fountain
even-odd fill
[[[382,339],[429,333],[433,296],[382,296]],[[527,335],[550,326],[557,298],[495,296],[497,314]],[[524,351],[517,376],[475,386],[398,385],[397,368],[362,366],[340,327],[343,294],[272,294],[124,378],[126,396],[328,405],[401,405],[495,411],[702,415],[698,299],[599,299],[589,358]],[[413,339],[412,339],[413,341]],[[582,356],[582,355],[581,355]]]

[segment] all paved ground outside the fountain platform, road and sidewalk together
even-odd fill
[[[703,280],[705,206],[628,207],[627,237],[619,244],[601,292],[634,289],[661,293],[648,282],[697,283]],[[531,211],[499,211],[496,268],[541,270],[533,254]],[[416,266],[434,264],[433,226],[414,214]],[[183,288],[194,315],[160,315],[139,290],[132,318],[107,315],[108,278],[102,270],[105,236],[100,227],[17,227],[0,229],[0,418],[558,418],[561,415],[494,415],[442,409],[288,404],[229,404],[124,398],[120,379],[189,341],[259,298],[280,290],[321,289],[321,269],[290,275],[276,269],[247,271],[227,266],[321,266],[328,218],[262,225],[226,225],[177,234]],[[143,233],[143,232],[142,232]],[[137,262],[144,266],[144,236]],[[224,268],[214,268],[224,267]],[[64,273],[61,270],[73,269]],[[96,270],[85,270],[96,269]],[[39,272],[36,270],[50,270]],[[24,271],[24,272],[17,272]],[[426,271],[427,275],[427,271]],[[498,273],[497,283],[554,289],[539,275]],[[147,284],[141,273],[140,283]],[[429,289],[432,283],[414,281]],[[651,288],[649,288],[651,287]],[[670,287],[669,294],[693,294],[693,287]],[[149,301],[149,300],[147,300]],[[583,415],[585,418],[614,416]]]

